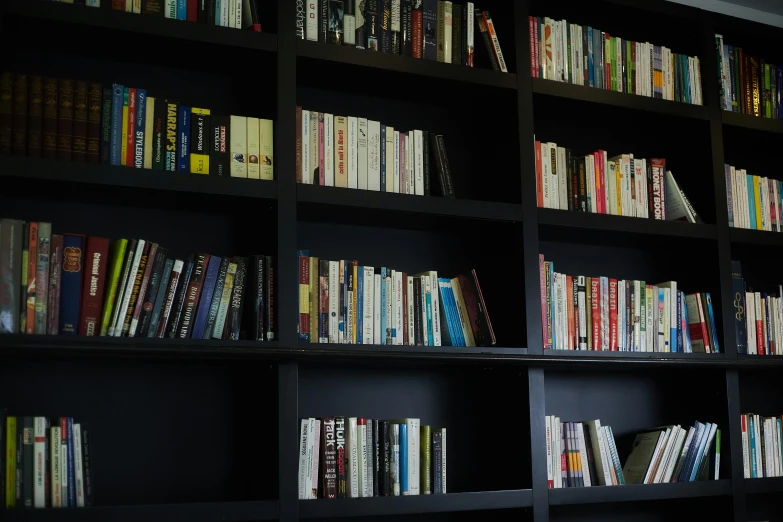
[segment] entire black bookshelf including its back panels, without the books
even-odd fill
[[[756,49],[783,30],[664,0],[583,7],[488,0],[482,7],[497,20],[509,74],[486,63],[467,68],[297,40],[289,0],[264,4],[261,34],[116,12],[108,0],[100,8],[0,0],[0,41],[11,49],[0,58],[3,67],[47,74],[51,66],[51,74],[61,74],[73,64],[74,75],[97,71],[90,73],[94,81],[118,74],[116,81],[143,85],[149,78],[167,96],[182,89],[194,103],[225,102],[221,109],[233,114],[275,120],[276,161],[275,181],[257,181],[0,157],[3,217],[67,228],[57,232],[156,237],[183,251],[263,252],[275,256],[278,269],[275,341],[0,337],[0,397],[9,401],[0,406],[73,411],[98,430],[95,459],[102,466],[97,506],[0,511],[0,519],[668,521],[672,512],[693,509],[746,522],[777,513],[773,497],[783,479],[743,478],[739,415],[783,411],[776,393],[783,357],[737,353],[729,263],[740,259],[743,269],[764,273],[772,266],[764,254],[783,246],[783,234],[728,227],[724,163],[744,168],[747,161],[747,168],[774,175],[777,150],[757,154],[747,143],[774,149],[783,123],[720,109],[713,35],[725,30],[732,43]],[[604,22],[596,12],[610,16]],[[660,35],[653,43],[700,57],[704,105],[531,78],[528,15],[594,23],[641,41]],[[668,21],[688,30],[661,32]],[[43,45],[43,32],[61,45]],[[124,52],[128,42],[140,51]],[[179,59],[167,61],[161,49]],[[262,72],[261,91],[231,62]],[[297,105],[443,133],[459,198],[297,185]],[[638,145],[642,157],[671,157],[705,223],[536,208],[534,135],[580,150]],[[498,345],[300,343],[302,248],[376,266],[389,256],[410,269],[476,268]],[[674,279],[686,291],[711,292],[721,353],[543,350],[539,253],[568,273]],[[780,282],[776,273],[757,277],[758,284]],[[52,382],[65,391],[52,394]],[[22,383],[31,391],[19,394]],[[600,402],[580,400],[596,395]],[[297,498],[300,417],[396,418],[406,407],[449,429],[448,494]],[[548,489],[544,416],[561,415],[558,408],[570,409],[564,420],[607,424],[633,410],[627,434],[671,422],[718,422],[720,480]],[[112,434],[137,419],[166,436],[123,433],[122,444],[112,445]],[[187,458],[175,452],[173,433],[186,439],[180,444]],[[191,433],[200,438],[188,439]],[[124,453],[131,442],[140,445],[135,462]],[[260,449],[247,453],[252,447]],[[192,458],[198,451],[211,453]],[[134,464],[153,471],[135,471]],[[145,490],[144,473],[155,474],[154,485],[171,476],[176,487]]]

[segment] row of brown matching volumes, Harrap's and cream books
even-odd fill
[[[146,89],[0,75],[0,153],[274,179],[273,122],[212,114]]]

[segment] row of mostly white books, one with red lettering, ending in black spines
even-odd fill
[[[434,167],[431,167],[432,164]],[[438,183],[431,188],[432,179]],[[367,118],[296,108],[296,181],[397,194],[454,198],[443,136]]]

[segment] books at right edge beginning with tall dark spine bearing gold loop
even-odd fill
[[[754,292],[742,278],[742,265],[731,262],[734,290],[734,329],[737,352],[750,355],[783,355],[783,286],[777,296]]]

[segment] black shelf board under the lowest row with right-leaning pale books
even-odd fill
[[[631,484],[589,488],[557,488],[549,490],[549,505],[596,504],[604,502],[636,502],[673,498],[714,497],[731,495],[730,480],[675,482],[670,484]]]

